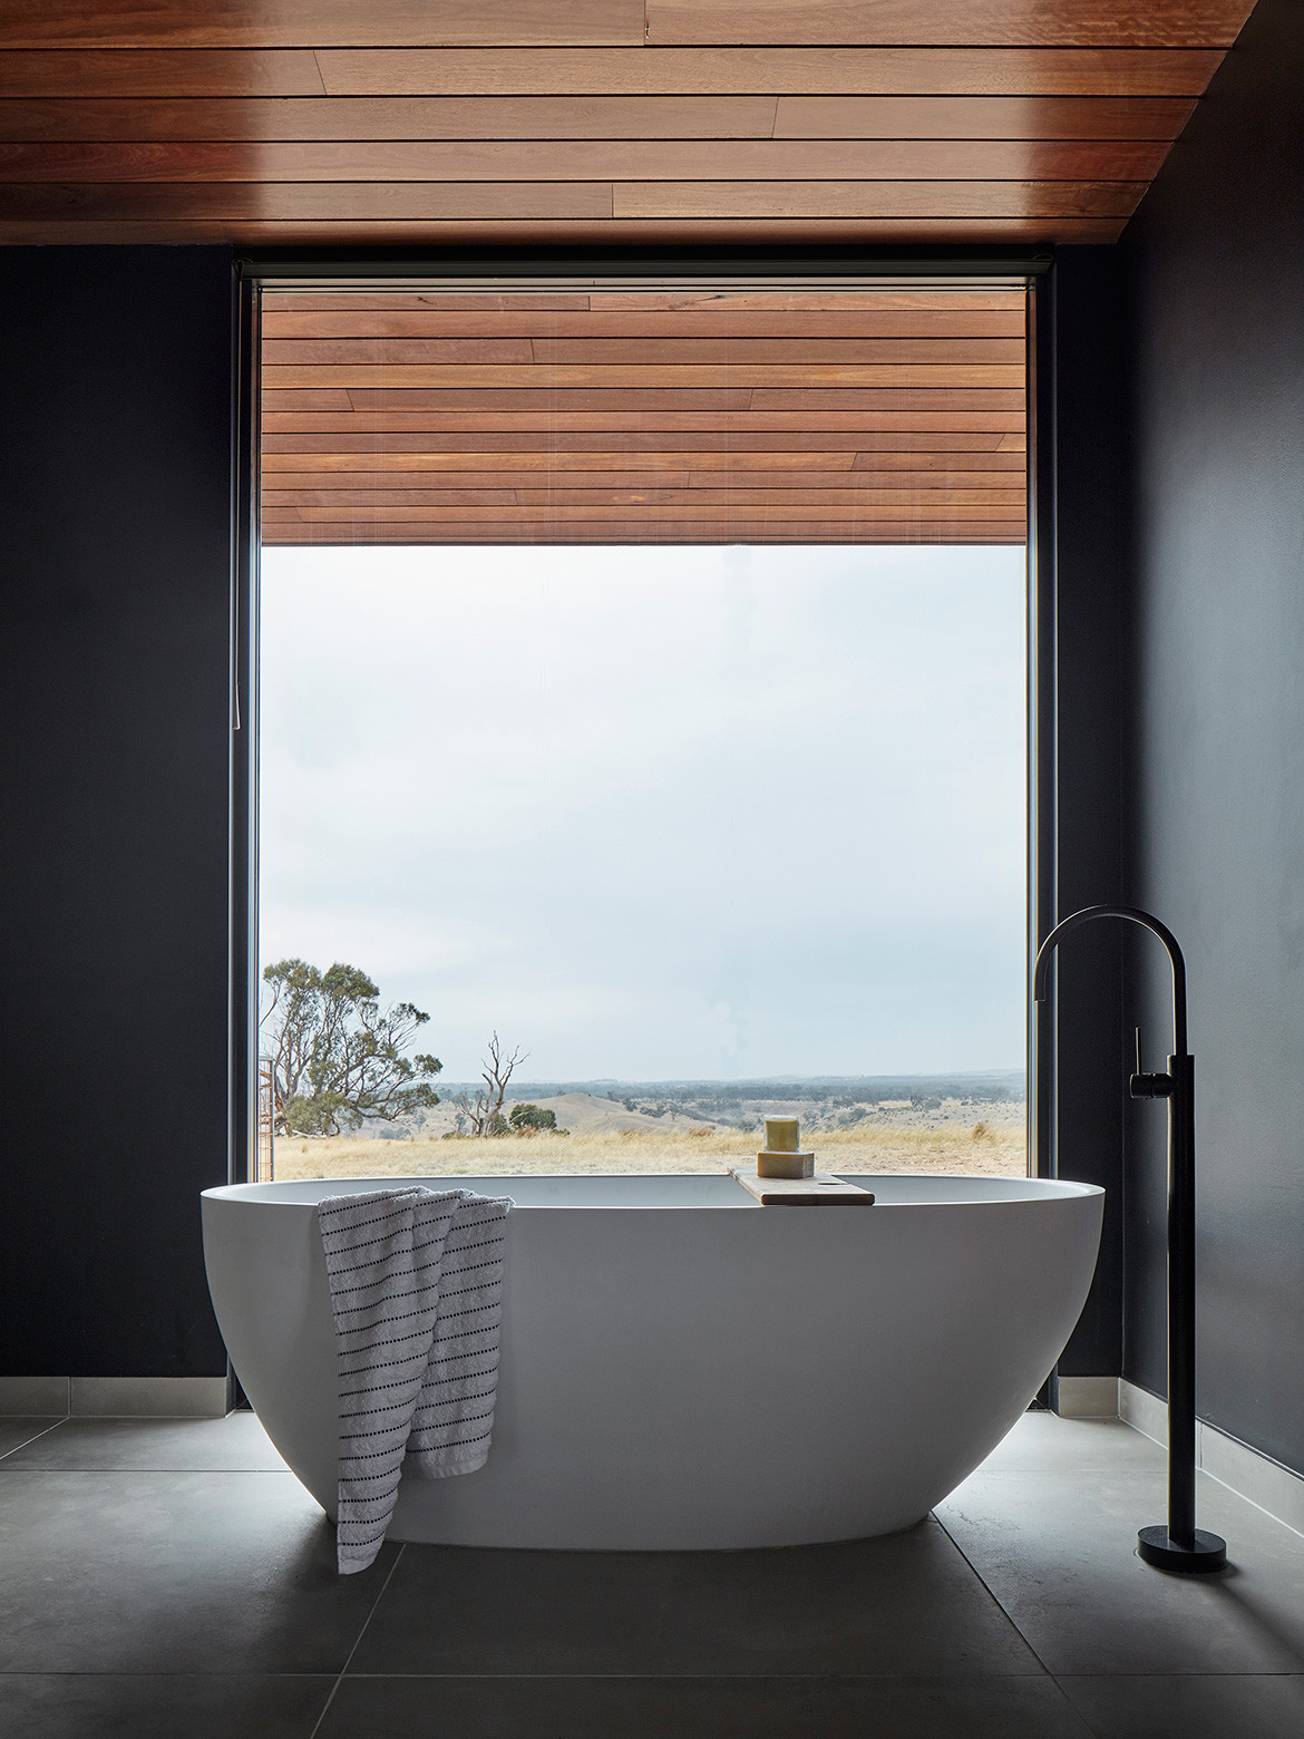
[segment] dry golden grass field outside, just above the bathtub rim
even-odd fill
[[[810,1137],[815,1163],[831,1172],[937,1172],[1022,1177],[1022,1120],[942,1129],[828,1130]],[[276,1177],[511,1177],[539,1172],[723,1172],[756,1156],[756,1137],[737,1130],[662,1136],[508,1136],[501,1141],[360,1141],[349,1136],[276,1143]]]

